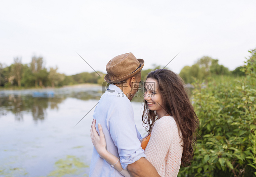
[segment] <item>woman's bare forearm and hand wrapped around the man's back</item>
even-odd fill
[[[91,125],[91,130],[90,130],[91,131],[90,137],[91,137],[91,142],[93,142],[93,145],[97,150],[98,154],[102,159],[106,160],[110,165],[114,166],[114,168],[118,172],[120,172],[123,176],[130,177],[129,172],[122,168],[119,159],[113,154],[111,154],[108,150],[106,150],[106,140],[102,131],[102,127],[100,124],[98,124],[99,133],[100,133],[99,135],[96,130],[95,124],[96,124],[96,120],[93,120],[93,124]]]

